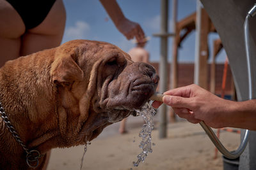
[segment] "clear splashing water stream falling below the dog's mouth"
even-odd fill
[[[155,144],[152,143],[151,132],[154,129],[152,117],[156,115],[156,109],[154,109],[150,103],[146,103],[140,110],[136,110],[141,117],[145,120],[145,124],[139,133],[141,142],[139,147],[142,149],[142,152],[137,156],[138,160],[132,162],[133,166],[139,166],[140,162],[144,162],[148,153],[152,153],[151,146]]]

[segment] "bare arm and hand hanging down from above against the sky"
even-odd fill
[[[141,41],[145,37],[145,34],[138,23],[125,18],[121,8],[118,6],[118,3],[116,3],[116,0],[100,0],[100,3],[104,6],[118,31],[124,34],[127,39],[135,37],[137,41]]]

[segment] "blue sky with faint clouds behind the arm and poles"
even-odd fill
[[[62,43],[72,39],[92,39],[106,41],[119,46],[128,52],[134,44],[127,40],[115,27],[108,17],[100,1],[97,0],[63,0],[67,11],[67,22]],[[160,44],[159,38],[152,34],[160,31],[160,8],[158,0],[117,0],[125,17],[141,25],[146,36],[150,36],[145,49],[150,53],[150,61],[159,61]],[[169,32],[172,19],[172,0],[169,1]],[[196,10],[196,0],[178,1],[178,20],[190,15]],[[218,34],[209,36],[210,55],[212,41],[218,38]],[[172,38],[168,39],[168,60],[172,60]],[[189,34],[179,50],[179,62],[194,62],[195,58],[195,32]],[[211,56],[210,59],[211,60]],[[225,52],[222,50],[217,62],[225,61]]]

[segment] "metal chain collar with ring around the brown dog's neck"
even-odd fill
[[[26,162],[29,167],[36,168],[39,164],[40,157],[43,155],[38,152],[38,150],[29,150],[26,145],[24,145],[23,141],[20,139],[19,134],[15,131],[13,125],[11,124],[9,118],[7,117],[6,113],[4,112],[4,108],[0,102],[0,115],[3,118],[4,123],[8,127],[9,131],[12,133],[12,136],[16,141],[22,146],[23,150],[27,153],[26,155]]]

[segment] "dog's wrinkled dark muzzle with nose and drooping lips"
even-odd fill
[[[141,108],[156,92],[159,76],[153,68],[146,71],[130,72],[109,82],[108,92],[102,101],[107,110],[136,110]],[[106,104],[106,105],[105,105]]]

